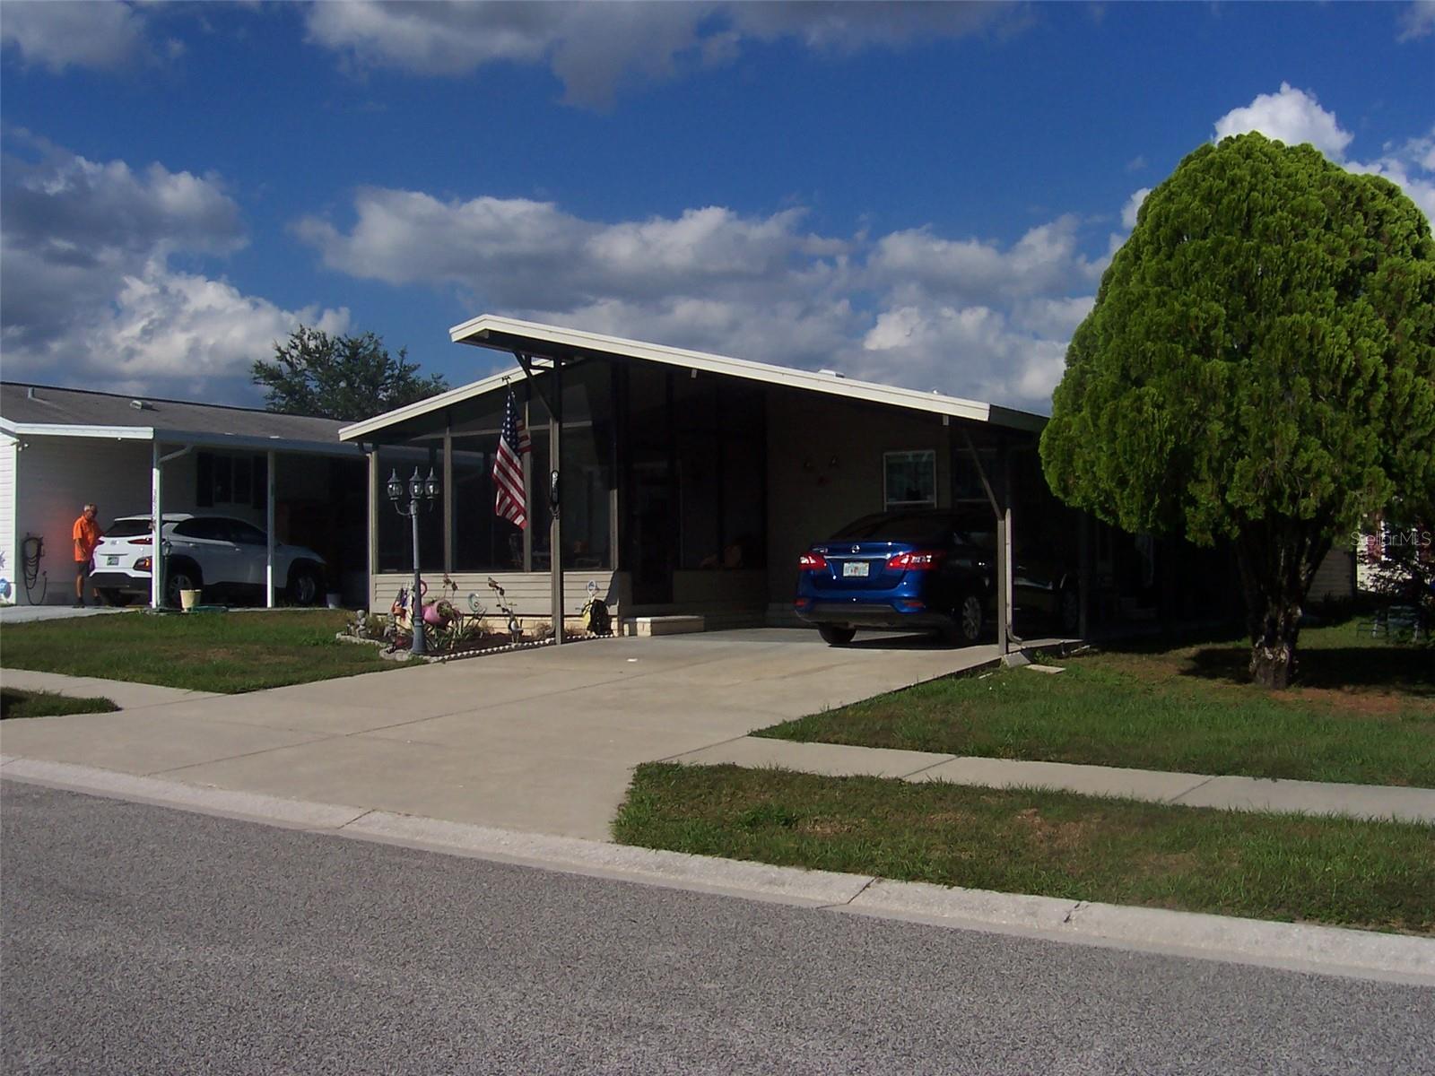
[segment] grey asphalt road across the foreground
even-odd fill
[[[3,785],[7,1073],[1435,1073],[1435,990]]]

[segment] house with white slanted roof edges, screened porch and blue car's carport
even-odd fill
[[[430,588],[446,574],[461,603],[472,594],[492,610],[494,580],[525,617],[552,610],[555,468],[568,618],[596,593],[621,620],[796,623],[796,562],[811,542],[861,515],[917,506],[986,518],[1009,508],[1017,565],[1033,557],[1079,574],[1083,627],[1224,615],[1238,603],[1238,588],[1224,585],[1234,580],[1228,552],[1124,534],[1059,504],[1038,459],[1039,415],[504,317],[474,318],[451,337],[508,353],[514,366],[340,433],[369,455],[373,608],[387,610],[410,580],[410,524],[385,485],[416,462],[442,483],[420,518]],[[494,511],[509,392],[532,436],[527,529]],[[561,400],[561,423],[545,400]]]

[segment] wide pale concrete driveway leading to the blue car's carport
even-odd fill
[[[608,839],[641,762],[994,657],[994,646],[951,650],[913,636],[832,648],[801,628],[594,640],[121,713],[6,722],[3,750]]]

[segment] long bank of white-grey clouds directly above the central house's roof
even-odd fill
[[[1078,230],[1062,217],[1007,245],[931,228],[831,237],[799,209],[600,222],[551,202],[373,188],[347,230],[297,225],[331,268],[456,287],[475,311],[1040,409],[1091,308]]]

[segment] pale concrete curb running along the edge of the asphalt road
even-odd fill
[[[1435,986],[1435,938],[771,867],[0,756],[0,776],[118,799],[649,885],[1078,944]]]

